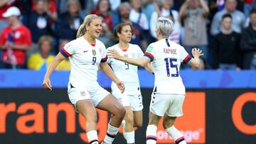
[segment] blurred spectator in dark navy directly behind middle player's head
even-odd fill
[[[145,52],[147,43],[145,40],[144,31],[142,30],[142,27],[139,26],[139,24],[134,23],[129,20],[129,13],[131,11],[131,6],[128,2],[124,2],[119,6],[119,16],[120,21],[124,23],[132,23],[132,26],[134,27],[134,34],[132,35],[132,40],[130,43],[139,45],[140,48],[142,48],[142,51]]]

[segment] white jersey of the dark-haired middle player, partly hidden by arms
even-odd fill
[[[123,51],[119,48],[118,45],[113,45],[107,50],[117,50],[119,55],[125,57],[139,58],[143,57],[144,53],[138,45],[129,44],[129,48],[126,51]],[[139,90],[139,77],[137,73],[138,67],[136,65],[130,65],[126,62],[115,60],[114,58],[108,58],[107,62],[111,65],[114,74],[124,82],[125,91],[124,94],[137,94]],[[117,85],[112,82],[111,89],[113,92],[120,93],[120,90],[117,88]]]

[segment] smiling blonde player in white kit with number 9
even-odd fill
[[[78,29],[77,38],[67,43],[51,62],[43,79],[43,87],[52,89],[50,74],[57,65],[70,58],[71,70],[68,82],[68,96],[75,108],[86,118],[86,132],[90,144],[98,144],[95,107],[112,113],[104,144],[113,142],[125,115],[124,106],[97,83],[98,66],[124,92],[121,82],[107,64],[105,45],[97,38],[102,31],[102,21],[97,15],[87,15]]]

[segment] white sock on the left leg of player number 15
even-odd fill
[[[149,125],[146,128],[146,144],[156,144],[157,126]]]

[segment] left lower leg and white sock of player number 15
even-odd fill
[[[149,112],[149,125],[146,128],[146,144],[156,144],[156,130],[161,116]]]

